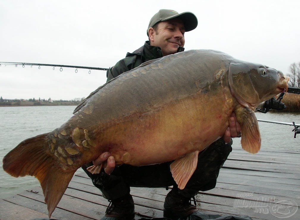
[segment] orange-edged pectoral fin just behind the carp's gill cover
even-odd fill
[[[247,107],[235,110],[236,119],[241,125],[241,145],[249,153],[257,153],[261,146],[258,122],[254,111]]]

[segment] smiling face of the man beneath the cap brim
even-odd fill
[[[184,46],[184,32],[181,19],[161,21],[156,31],[149,28],[150,45],[161,47],[163,56],[174,54],[179,46]]]

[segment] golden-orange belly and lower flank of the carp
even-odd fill
[[[104,136],[110,138],[101,144],[99,153],[105,149],[117,162],[135,166],[178,159],[220,138],[231,112],[221,98],[214,98],[212,104],[195,95],[161,109],[137,113],[104,131]]]

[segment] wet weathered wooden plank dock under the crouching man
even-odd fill
[[[196,195],[205,214],[252,219],[300,219],[300,153],[233,149],[214,189]],[[131,188],[136,216],[162,218],[164,188]],[[82,172],[70,182],[53,219],[101,219],[108,201]],[[284,205],[285,204],[285,205]],[[36,187],[0,201],[0,219],[48,218],[42,189]]]

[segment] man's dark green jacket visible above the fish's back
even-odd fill
[[[177,50],[177,52],[182,51],[184,51],[183,47],[179,47]],[[132,53],[128,52],[124,59],[120,60],[116,63],[115,66],[110,67],[109,70],[107,70],[107,82],[124,72],[127,72],[135,67],[140,66],[140,64],[146,61],[154,60],[161,57],[163,57],[161,48],[157,46],[151,46],[149,44],[149,41],[146,41],[145,44],[139,49],[135,50]]]

